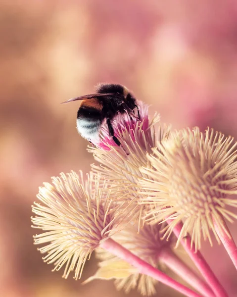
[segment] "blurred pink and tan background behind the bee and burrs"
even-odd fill
[[[89,171],[93,162],[76,131],[78,103],[59,103],[98,82],[126,85],[173,128],[211,126],[237,137],[237,1],[0,2],[2,297],[124,296],[111,281],[81,285],[96,270],[94,258],[82,280],[63,280],[32,240],[38,187],[61,171]],[[224,248],[214,242],[202,252],[237,296]],[[158,292],[180,296],[163,285]]]

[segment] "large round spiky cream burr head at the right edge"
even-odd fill
[[[213,219],[221,224],[222,217],[230,222],[237,218],[226,209],[237,207],[237,199],[229,197],[237,194],[236,148],[232,137],[194,128],[174,133],[148,156],[150,165],[141,169],[148,176],[141,180],[143,202],[153,204],[147,217],[153,223],[173,220],[165,235],[183,221],[177,245],[187,232],[196,248],[200,248],[201,234],[212,244],[210,230],[219,242]],[[229,235],[225,226],[220,227]]]

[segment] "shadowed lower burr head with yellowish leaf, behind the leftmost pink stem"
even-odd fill
[[[161,225],[158,224],[153,226],[144,224],[138,233],[138,226],[129,225],[112,238],[153,267],[161,268],[164,264],[159,262],[159,254],[164,249],[170,249],[172,241],[162,241],[160,229]],[[102,248],[96,248],[95,252],[96,257],[100,260],[99,269],[85,283],[94,279],[115,279],[116,289],[123,289],[127,294],[135,288],[138,288],[143,296],[156,294],[157,280],[140,274],[135,267]]]

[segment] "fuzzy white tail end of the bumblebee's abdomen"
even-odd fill
[[[87,118],[77,119],[77,131],[85,139],[91,140],[98,137],[100,120],[92,120]]]

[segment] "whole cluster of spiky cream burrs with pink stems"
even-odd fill
[[[98,165],[83,177],[71,172],[52,178],[40,188],[32,218],[44,260],[64,266],[80,278],[92,252],[100,260],[95,278],[115,279],[117,289],[138,287],[144,296],[155,293],[161,281],[186,296],[196,293],[160,271],[165,263],[177,274],[189,275],[190,285],[204,296],[226,296],[198,251],[211,231],[226,242],[233,262],[237,248],[225,220],[237,215],[237,144],[232,137],[198,128],[171,132],[148,107],[139,102],[140,118],[119,114],[113,121],[117,146],[102,125],[95,147],[89,147]],[[180,231],[178,231],[178,229]],[[173,233],[204,275],[206,283],[172,254]],[[161,235],[162,233],[162,235]],[[172,240],[171,240],[172,237]],[[190,245],[184,244],[188,238]],[[169,240],[169,241],[168,241]],[[173,247],[173,245],[172,245]],[[199,252],[199,251],[198,251]],[[178,265],[178,266],[177,266]]]

